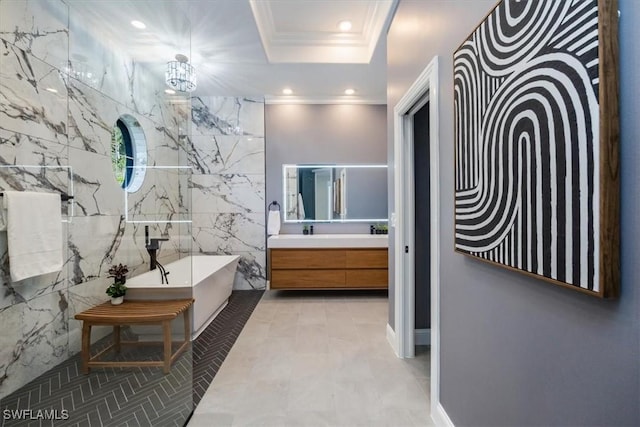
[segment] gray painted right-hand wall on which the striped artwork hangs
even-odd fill
[[[640,425],[640,2],[619,0],[622,290],[613,301],[453,252],[452,54],[494,5],[401,0],[387,40],[389,153],[393,106],[440,56],[441,403],[459,426]]]

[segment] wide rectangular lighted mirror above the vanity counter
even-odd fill
[[[283,165],[285,222],[386,222],[387,165]]]

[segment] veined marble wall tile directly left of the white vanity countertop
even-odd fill
[[[263,251],[264,214],[193,214],[193,248],[201,253]]]

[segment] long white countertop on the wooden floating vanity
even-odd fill
[[[388,234],[279,234],[268,248],[388,248]]]

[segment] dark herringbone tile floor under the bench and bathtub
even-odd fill
[[[234,291],[227,307],[175,361],[167,375],[160,368],[92,369],[89,375],[83,375],[80,354],[76,354],[2,399],[0,426],[185,425],[262,294],[263,291]],[[110,339],[105,337],[92,350],[104,348]],[[123,350],[120,357],[158,360],[160,353],[158,349],[142,347]],[[21,419],[13,412],[19,410],[24,410],[20,412]]]

